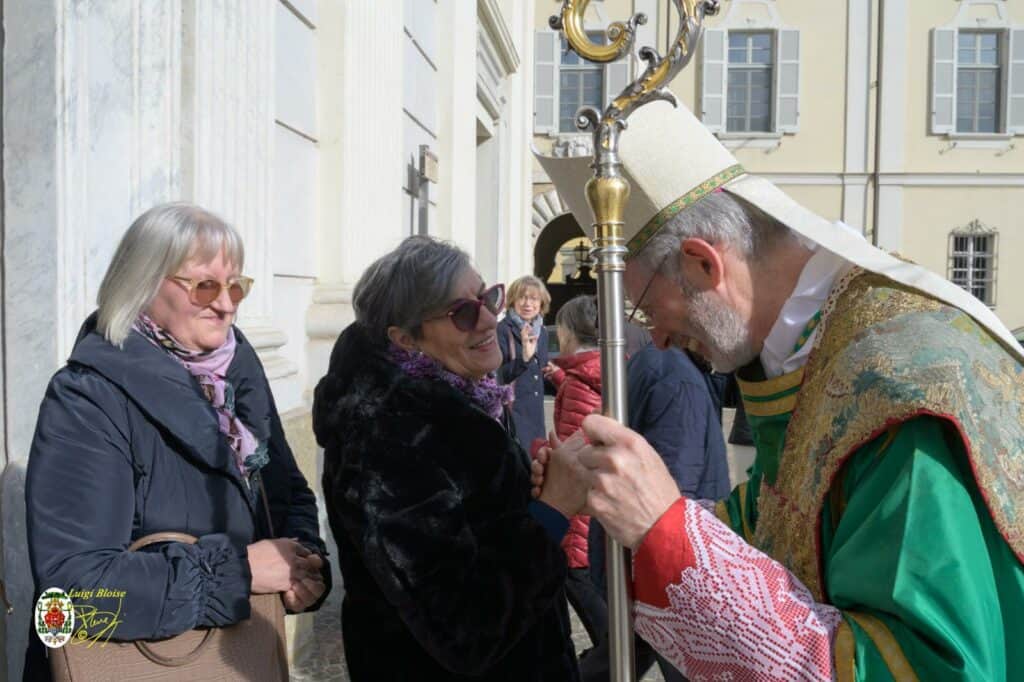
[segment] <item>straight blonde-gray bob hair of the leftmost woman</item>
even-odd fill
[[[165,278],[188,261],[209,262],[221,251],[241,271],[245,248],[234,227],[193,204],[154,206],[135,219],[114,252],[96,296],[97,330],[121,347]]]

